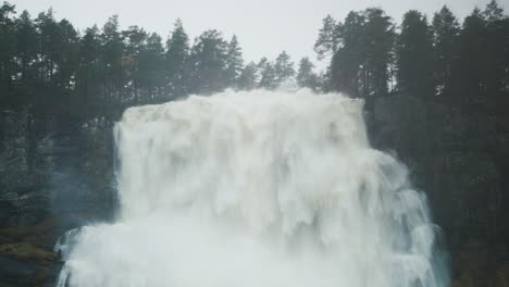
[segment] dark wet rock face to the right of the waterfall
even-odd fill
[[[497,270],[509,261],[509,120],[407,96],[373,107],[371,141],[394,151],[427,192],[455,286],[498,286]]]

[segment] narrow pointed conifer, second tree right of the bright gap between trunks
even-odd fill
[[[452,12],[444,5],[433,17],[433,43],[435,54],[435,84],[438,95],[447,95],[452,88],[452,68],[457,58],[459,24]]]

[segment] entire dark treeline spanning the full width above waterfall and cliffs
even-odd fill
[[[245,63],[235,36],[206,30],[190,42],[177,20],[166,40],[117,16],[77,30],[52,10],[32,17],[0,8],[0,104],[72,121],[117,118],[127,107],[225,88],[274,89],[290,80],[352,97],[408,93],[450,104],[508,109],[509,17],[492,1],[460,25],[444,7],[431,23],[418,11],[397,26],[382,9],[327,16],[314,45],[330,61],[295,64],[286,52]]]

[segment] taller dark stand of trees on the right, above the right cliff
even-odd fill
[[[405,93],[456,107],[509,109],[509,17],[496,1],[462,25],[447,7],[396,26],[382,9],[323,20],[314,46],[331,59],[322,87],[353,97]]]

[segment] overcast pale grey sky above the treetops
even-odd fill
[[[226,38],[235,33],[247,60],[262,55],[275,58],[286,50],[296,61],[309,55],[326,14],[343,20],[351,10],[381,7],[399,22],[401,15],[417,9],[432,15],[447,4],[461,20],[489,0],[10,0],[17,11],[33,16],[52,7],[58,18],[70,20],[77,28],[98,24],[119,14],[122,27],[139,25],[166,38],[177,17],[194,39],[201,32],[216,28]],[[498,0],[509,10],[509,0]]]

